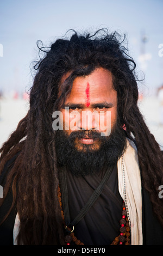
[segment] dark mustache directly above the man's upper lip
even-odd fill
[[[81,131],[73,131],[71,132],[70,134],[70,139],[73,140],[73,139],[76,139],[76,138],[86,138],[86,139],[99,139],[101,138],[101,133],[96,131],[96,130],[89,130],[89,131],[84,131],[84,130],[81,130]]]

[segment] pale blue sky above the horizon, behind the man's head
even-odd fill
[[[95,32],[107,27],[126,33],[137,72],[140,77],[145,72],[145,86],[152,92],[163,84],[162,10],[162,0],[0,0],[0,90],[23,92],[32,86],[30,63],[38,57],[37,40],[49,46],[68,29]]]

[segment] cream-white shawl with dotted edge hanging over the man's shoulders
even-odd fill
[[[126,204],[126,210],[131,230],[131,245],[142,245],[142,198],[141,178],[137,150],[135,144],[127,139],[127,149],[117,162],[118,189]],[[20,220],[16,215],[14,225],[14,245],[17,245],[16,237]]]

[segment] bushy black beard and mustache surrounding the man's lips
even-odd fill
[[[83,144],[83,150],[75,146],[75,139],[85,136],[97,138],[100,147]],[[95,174],[105,166],[113,166],[126,149],[126,135],[120,126],[115,125],[110,136],[101,136],[98,131],[73,131],[70,136],[65,131],[56,131],[55,148],[59,166],[66,166],[75,175]]]

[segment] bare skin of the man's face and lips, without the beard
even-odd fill
[[[66,79],[65,75],[62,81]],[[110,129],[114,127],[117,121],[117,92],[112,86],[112,75],[109,70],[97,68],[91,75],[84,77],[77,77],[73,81],[72,90],[68,95],[65,107],[69,107],[69,111],[65,108],[61,109],[63,114],[64,128],[66,133],[70,136],[74,130],[97,130],[104,132],[106,129],[106,113],[111,113]],[[87,118],[83,118],[83,111],[87,114]],[[90,118],[90,113],[96,111],[97,115],[101,114],[101,119]],[[77,113],[76,118],[75,113]],[[73,129],[71,123],[73,121]],[[74,122],[75,121],[75,122]],[[104,127],[105,126],[105,127]],[[98,139],[89,138],[85,136],[82,139],[76,139],[76,147],[78,150],[83,148],[83,144],[92,145],[93,149],[100,147]]]

